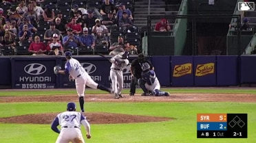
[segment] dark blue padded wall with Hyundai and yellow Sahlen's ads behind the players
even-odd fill
[[[92,79],[111,87],[110,62],[100,56],[74,56]],[[129,57],[134,60],[136,57]],[[256,83],[255,56],[152,56],[161,86],[239,86]],[[74,88],[67,75],[54,75],[55,65],[64,67],[65,57],[0,57],[0,86],[13,89]],[[124,88],[130,87],[130,68],[123,71]]]

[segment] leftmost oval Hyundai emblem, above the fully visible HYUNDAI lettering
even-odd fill
[[[41,75],[45,73],[46,67],[43,64],[33,63],[25,66],[24,71],[29,75]]]

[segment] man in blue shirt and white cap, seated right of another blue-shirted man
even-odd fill
[[[95,46],[94,36],[92,36],[91,34],[88,34],[87,27],[83,28],[83,35],[79,37],[79,43],[81,46],[91,47],[92,49],[94,49],[94,46]]]

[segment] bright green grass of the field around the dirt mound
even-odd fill
[[[208,89],[206,88],[168,88],[169,92],[190,93],[252,93],[256,90],[246,89]],[[97,92],[96,92],[97,91]],[[254,92],[253,92],[254,91]],[[27,91],[29,95],[43,95],[42,91]],[[28,95],[25,91],[1,91],[0,96]],[[33,92],[33,94],[32,94]],[[100,93],[98,90],[87,90],[89,93]],[[125,90],[128,93],[128,90]],[[8,94],[9,93],[9,94]],[[15,94],[14,94],[15,93]],[[47,90],[47,95],[76,94],[75,90]],[[65,98],[65,97],[63,97]],[[78,103],[76,103],[78,104]],[[17,116],[23,114],[39,114],[65,111],[66,103],[0,103],[0,117]],[[234,102],[173,102],[173,103],[86,103],[87,112],[109,112],[120,114],[135,114],[144,116],[162,116],[174,118],[164,122],[143,122],[132,124],[92,125],[92,139],[87,143],[255,143],[256,135],[256,103]],[[248,138],[247,139],[197,139],[196,114],[198,113],[247,113]],[[107,120],[107,119],[106,119]],[[85,137],[85,129],[82,128]],[[58,134],[50,129],[50,125],[22,125],[0,123],[0,142],[55,142]]]

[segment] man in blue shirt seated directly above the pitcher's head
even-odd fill
[[[64,47],[78,47],[79,38],[73,34],[73,29],[67,29],[67,36],[63,37]]]

